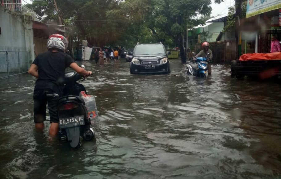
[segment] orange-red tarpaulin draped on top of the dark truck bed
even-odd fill
[[[274,53],[246,53],[240,56],[239,60],[281,60],[281,52]]]

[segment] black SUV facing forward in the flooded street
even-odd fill
[[[130,63],[130,73],[171,73],[163,44],[137,44]]]

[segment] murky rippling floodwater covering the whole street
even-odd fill
[[[0,80],[1,178],[279,178],[281,86],[230,78],[131,75],[128,63],[97,67],[82,84],[96,96],[96,143],[70,148],[37,133],[35,78]],[[47,119],[48,120],[48,119]]]

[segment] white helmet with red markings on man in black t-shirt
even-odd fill
[[[63,52],[66,52],[68,46],[67,39],[61,35],[61,34],[53,34],[50,35],[48,42],[47,42],[47,48],[56,48],[58,50],[61,50]]]

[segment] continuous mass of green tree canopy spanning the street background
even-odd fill
[[[178,46],[186,57],[183,36],[187,28],[203,24],[212,11],[211,0],[54,0],[27,5],[45,23],[58,23],[58,14],[69,34],[90,45],[159,42]],[[223,0],[215,0],[220,3]]]

